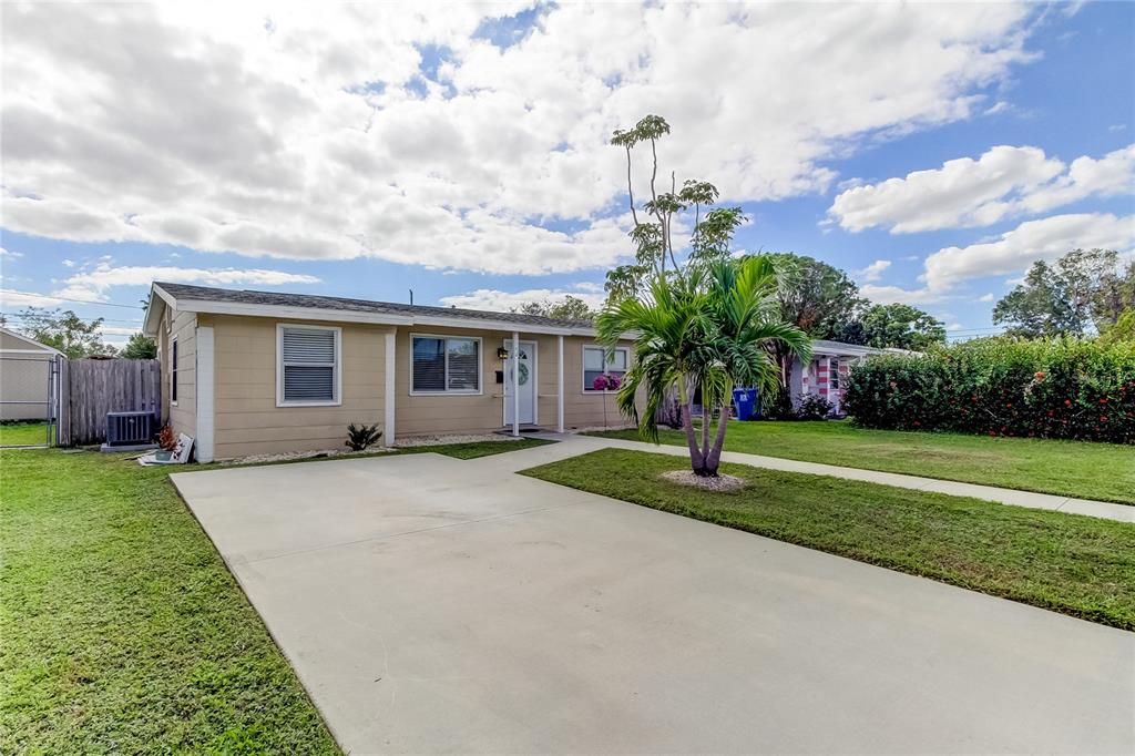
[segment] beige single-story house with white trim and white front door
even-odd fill
[[[351,422],[382,443],[438,434],[621,425],[598,376],[631,342],[589,322],[365,300],[154,283],[162,420],[212,460],[343,448]]]

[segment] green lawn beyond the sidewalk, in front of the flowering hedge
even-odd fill
[[[594,434],[638,439],[634,430]],[[676,430],[662,443],[686,445]],[[1135,446],[868,430],[847,421],[737,422],[725,448],[805,462],[1135,504]]]

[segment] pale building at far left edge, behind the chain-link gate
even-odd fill
[[[51,363],[62,352],[0,327],[0,420],[45,420]]]

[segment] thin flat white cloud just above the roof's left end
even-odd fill
[[[304,274],[281,270],[236,268],[171,268],[153,266],[125,266],[116,268],[110,262],[100,262],[92,270],[76,274],[64,280],[56,296],[102,301],[115,286],[149,286],[152,282],[171,284],[203,284],[207,286],[281,286],[285,284],[318,284],[319,278]]]

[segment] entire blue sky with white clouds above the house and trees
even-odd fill
[[[318,5],[318,7],[317,7]],[[951,338],[1135,250],[1135,3],[3,3],[0,311],[137,330],[152,280],[508,309],[627,261],[614,129],[739,251]],[[636,193],[647,191],[636,154]]]

